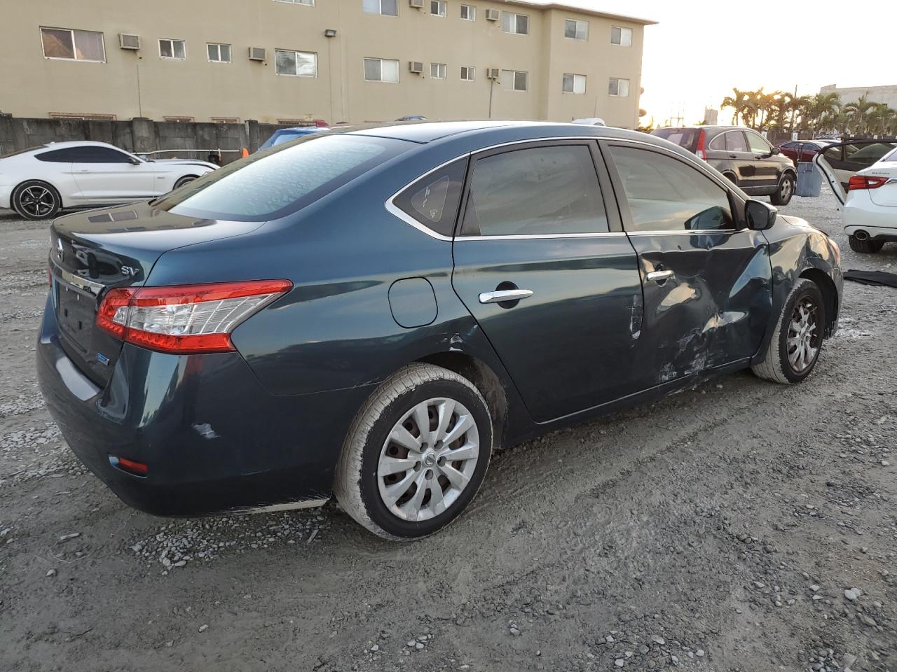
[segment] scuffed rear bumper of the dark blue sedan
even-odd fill
[[[78,458],[126,504],[202,515],[320,503],[344,435],[371,387],[278,396],[239,353],[166,355],[126,344],[100,388],[62,349],[48,302],[41,391]],[[145,478],[110,456],[143,462]]]

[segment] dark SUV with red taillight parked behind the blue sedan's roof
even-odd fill
[[[770,196],[773,205],[787,205],[797,172],[761,134],[744,126],[658,128],[652,135],[692,151],[746,194]]]

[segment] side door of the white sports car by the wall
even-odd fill
[[[77,148],[72,174],[79,200],[84,203],[138,201],[160,194],[153,184],[156,176],[152,163],[112,147]]]

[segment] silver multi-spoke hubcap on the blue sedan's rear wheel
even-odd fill
[[[380,451],[380,498],[405,521],[438,516],[464,492],[479,455],[480,434],[463,404],[421,401],[396,422]]]

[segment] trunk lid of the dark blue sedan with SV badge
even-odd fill
[[[263,222],[200,220],[149,203],[77,212],[50,228],[49,270],[60,343],[94,383],[109,382],[122,341],[96,327],[107,290],[144,285],[165,252],[239,236]]]

